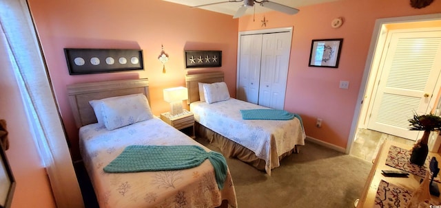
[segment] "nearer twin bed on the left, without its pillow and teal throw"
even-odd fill
[[[113,130],[97,122],[90,100],[134,94],[148,98],[147,79],[72,84],[68,86],[68,94],[76,126],[80,128],[81,156],[101,208],[237,207],[229,170],[220,189],[209,160],[184,170],[130,173],[103,170],[132,145],[198,146],[210,151],[157,117]]]

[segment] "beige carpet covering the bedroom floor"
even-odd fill
[[[219,150],[206,143],[208,148]],[[372,164],[307,142],[272,170],[271,176],[237,159],[227,159],[239,208],[353,207]]]

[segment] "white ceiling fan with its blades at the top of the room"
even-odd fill
[[[230,1],[220,1],[220,2],[216,2],[216,3],[207,3],[204,5],[196,5],[192,8],[200,8],[206,5],[215,5],[215,4],[219,4],[219,3],[230,3],[230,2],[240,2],[243,1],[243,5],[240,6],[240,8],[237,10],[236,14],[234,14],[233,18],[239,18],[240,16],[243,16],[243,14],[245,14],[245,12],[247,11],[248,8],[252,8],[254,6],[254,3],[258,3],[261,6],[265,7],[265,8],[269,8],[271,10],[276,10],[278,12],[283,12],[285,14],[297,14],[297,12],[299,11],[296,8],[291,8],[287,5],[283,5],[280,3],[275,3],[272,1],[267,1],[267,0],[262,0],[262,1],[256,1],[256,0],[230,0]]]

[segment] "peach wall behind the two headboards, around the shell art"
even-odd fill
[[[185,74],[224,71],[235,97],[238,21],[231,16],[160,0],[50,1],[29,0],[43,53],[69,137],[74,160],[80,159],[78,133],[68,103],[66,84],[149,78],[155,115],[168,111],[162,90],[185,86]],[[158,61],[161,44],[170,60]],[[143,49],[144,71],[70,76],[63,48]],[[185,69],[184,50],[221,50],[222,67]]]

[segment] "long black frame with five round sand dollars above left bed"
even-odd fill
[[[141,49],[74,49],[64,54],[70,75],[143,70]]]

